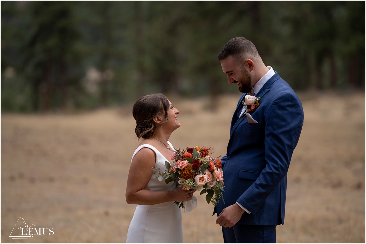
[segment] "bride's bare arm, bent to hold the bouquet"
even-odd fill
[[[155,160],[155,152],[150,148],[142,148],[136,153],[131,163],[130,172],[128,172],[126,202],[128,204],[154,205],[192,199],[192,197],[189,197],[190,191],[182,190],[182,186],[178,186],[172,191],[145,190],[153,175],[151,168],[155,167]]]

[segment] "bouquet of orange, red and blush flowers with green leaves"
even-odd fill
[[[223,169],[219,157],[213,158],[212,148],[186,148],[184,150],[175,149],[171,160],[173,164],[165,161],[166,171],[160,172],[160,168],[152,168],[156,178],[160,181],[165,179],[165,183],[173,182],[171,190],[178,184],[183,184],[183,190],[196,188],[201,190],[200,195],[206,194],[206,201],[216,206],[223,199],[224,183]],[[221,191],[220,191],[221,190]],[[195,197],[194,197],[195,198]],[[196,200],[197,201],[197,200]],[[184,202],[175,202],[179,207],[184,206]],[[196,205],[197,206],[197,205]]]

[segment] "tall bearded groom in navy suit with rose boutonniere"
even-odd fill
[[[275,243],[276,225],[284,224],[287,171],[303,125],[302,105],[244,37],[228,41],[218,58],[229,84],[243,95],[221,159],[225,205],[215,207],[216,224],[223,226],[225,243]],[[251,106],[254,97],[246,95],[259,97],[259,106]]]

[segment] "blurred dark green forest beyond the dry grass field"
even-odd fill
[[[237,36],[296,91],[365,88],[365,1],[1,1],[1,111],[214,101]]]

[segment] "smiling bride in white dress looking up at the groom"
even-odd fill
[[[193,192],[173,182],[166,184],[155,178],[152,167],[165,170],[165,161],[172,163],[174,150],[168,141],[180,127],[178,109],[163,94],[143,96],[134,104],[135,133],[144,138],[135,150],[128,173],[126,201],[138,204],[128,228],[126,243],[183,243],[182,210],[174,201],[192,199]]]

